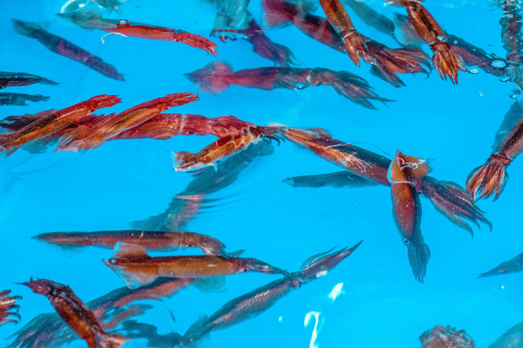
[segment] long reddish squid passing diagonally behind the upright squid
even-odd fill
[[[390,186],[387,173],[391,159],[373,153],[356,145],[334,139],[321,130],[304,130],[283,125],[275,125],[281,135],[290,142],[312,150],[317,156],[334,163],[354,174],[373,182]],[[478,221],[492,224],[483,216],[467,192],[456,182],[437,180],[428,175],[416,176],[414,184],[418,193],[428,198],[438,212],[452,223],[472,234],[472,227],[463,218],[479,226]]]

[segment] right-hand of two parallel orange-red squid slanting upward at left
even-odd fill
[[[174,93],[146,101],[118,114],[110,114],[99,119],[95,118],[66,133],[54,151],[77,152],[80,149],[98,148],[108,138],[131,129],[153,118],[160,112],[196,100],[198,100],[198,95],[193,95],[192,93]]]

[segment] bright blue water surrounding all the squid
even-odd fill
[[[368,2],[392,17],[403,8]],[[197,92],[182,74],[213,61],[212,55],[188,45],[108,36],[88,31],[53,16],[60,1],[0,1],[0,70],[23,71],[60,82],[59,86],[35,84],[9,88],[8,92],[51,96],[47,102],[0,109],[0,118],[61,109],[99,94],[118,94],[122,111],[138,103],[173,92]],[[498,56],[505,56],[500,40],[501,9],[483,2],[429,2],[427,8],[448,31]],[[121,7],[122,14],[108,18],[188,30],[208,37],[215,10],[205,2],[135,1]],[[249,10],[256,19],[260,2]],[[321,8],[318,15],[323,15]],[[349,12],[350,14],[350,12]],[[115,65],[126,82],[109,79],[87,67],[43,48],[36,40],[12,29],[10,17],[49,23],[50,32]],[[352,17],[360,32],[397,47],[384,34]],[[442,80],[435,71],[402,75],[406,87],[394,88],[373,76],[369,67],[357,68],[344,54],[304,36],[293,26],[267,30],[273,41],[289,47],[302,67],[328,67],[356,73],[368,80],[377,93],[393,99],[378,110],[360,107],[339,96],[331,87],[304,90],[262,91],[230,86],[219,95],[200,92],[200,100],[169,112],[195,113],[207,117],[233,114],[260,125],[279,122],[289,126],[321,126],[337,139],[360,144],[375,152],[433,158],[432,175],[464,185],[470,170],[490,155],[494,134],[505,112],[515,101],[513,85],[483,71],[460,72],[459,85]],[[238,40],[218,44],[217,60],[236,69],[272,66]],[[424,49],[430,53],[425,45]],[[104,110],[104,112],[107,112]],[[172,169],[169,150],[198,152],[214,141],[212,136],[176,136],[168,141],[122,140],[107,142],[84,154],[48,149],[32,155],[23,150],[2,160],[0,167],[0,288],[23,296],[21,321],[0,327],[8,337],[42,312],[52,312],[49,301],[29,288],[15,285],[30,276],[48,278],[71,286],[88,301],[123,285],[100,260],[109,250],[88,248],[71,256],[31,236],[47,231],[95,231],[128,229],[129,223],[157,215],[173,195],[184,190],[190,173]],[[273,143],[274,144],[274,143]],[[189,224],[189,230],[223,241],[228,250],[246,249],[280,268],[297,270],[304,259],[335,246],[361,247],[327,276],[307,284],[280,300],[258,317],[228,329],[213,331],[202,347],[308,347],[314,319],[304,326],[305,316],[319,313],[315,344],[335,347],[419,347],[419,335],[437,324],[465,329],[476,346],[485,347],[506,329],[523,319],[523,275],[508,274],[476,279],[480,272],[523,251],[520,218],[523,201],[523,161],[509,167],[510,180],[496,201],[480,207],[493,223],[467,231],[451,224],[422,198],[422,231],[431,258],[424,284],[414,280],[405,247],[392,219],[390,190],[369,188],[292,188],[287,177],[340,170],[291,143],[276,146],[274,154],[259,156],[238,179],[216,193],[215,199]],[[189,253],[191,250],[184,251]],[[277,275],[247,273],[228,276],[225,291],[202,293],[194,287],[181,290],[154,306],[140,321],[154,324],[161,333],[183,334],[204,312],[212,314],[226,301],[277,279]],[[332,289],[343,283],[335,299]],[[175,317],[172,321],[169,311]],[[76,340],[71,347],[85,347]],[[126,347],[145,346],[134,340]],[[312,346],[312,345],[311,345]]]

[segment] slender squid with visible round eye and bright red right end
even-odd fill
[[[214,56],[218,54],[214,42],[184,30],[130,22],[127,19],[101,18],[94,11],[74,11],[56,15],[69,19],[84,29],[99,29],[108,33],[119,34],[120,36],[131,36],[142,39],[180,42],[206,51],[207,53],[212,53]]]

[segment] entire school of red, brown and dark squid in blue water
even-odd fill
[[[431,249],[422,233],[424,200],[421,197],[428,199],[436,212],[446,218],[447,221],[442,220],[442,225],[454,224],[470,234],[471,238],[475,229],[483,227],[492,231],[493,224],[478,203],[488,198],[496,201],[505,188],[510,190],[508,166],[523,152],[523,104],[519,100],[514,101],[503,124],[495,132],[492,153],[485,153],[485,163],[468,168],[469,175],[460,182],[433,177],[427,154],[403,153],[401,149],[396,149],[394,154],[388,155],[362,144],[357,146],[338,140],[335,132],[320,126],[282,124],[278,115],[270,115],[272,119],[267,124],[256,124],[249,122],[248,115],[173,112],[177,107],[188,104],[197,109],[200,96],[196,90],[200,94],[218,95],[231,85],[265,91],[283,88],[295,93],[310,86],[331,86],[337,94],[346,98],[340,100],[349,102],[347,109],[350,108],[350,112],[361,108],[378,110],[394,102],[374,90],[372,82],[355,73],[328,67],[301,66],[299,57],[288,47],[267,36],[269,29],[288,26],[294,26],[305,34],[308,37],[306,40],[315,40],[347,54],[347,69],[367,65],[373,77],[402,90],[408,89],[400,78],[402,74],[425,78],[436,73],[453,88],[459,88],[460,75],[476,74],[481,70],[503,82],[511,82],[516,99],[523,94],[523,4],[519,0],[503,0],[493,5],[502,9],[504,14],[499,20],[503,48],[506,50],[504,57],[487,53],[486,48],[476,47],[442,29],[443,23],[429,12],[430,3],[415,0],[386,2],[387,6],[397,9],[394,18],[381,14],[380,7],[374,6],[374,3],[358,0],[209,2],[216,13],[209,38],[191,33],[190,28],[173,29],[127,19],[124,13],[129,3],[117,0],[70,0],[56,14],[59,20],[73,28],[71,30],[85,29],[87,34],[96,38],[102,31],[106,39],[106,35],[113,34],[111,40],[134,37],[173,41],[178,47],[181,44],[190,46],[195,54],[204,51],[211,61],[200,69],[187,71],[183,77],[179,76],[194,83],[194,90],[179,91],[173,84],[173,90],[168,94],[166,92],[152,100],[133,100],[134,106],[127,110],[119,107],[122,100],[126,101],[125,94],[108,95],[103,86],[98,86],[99,95],[79,99],[74,105],[62,105],[51,99],[53,108],[3,117],[0,120],[0,154],[3,160],[9,161],[11,156],[20,152],[34,156],[49,154],[51,150],[48,148],[52,148],[52,152],[73,152],[82,156],[87,150],[95,150],[106,142],[117,140],[167,141],[178,135],[214,136],[217,140],[199,152],[178,148],[170,152],[172,168],[176,171],[173,175],[186,175],[178,171],[189,172],[191,180],[183,191],[173,196],[165,212],[132,222],[132,229],[39,230],[32,239],[68,252],[87,248],[105,249],[107,257],[103,262],[121,280],[122,286],[106,295],[84,301],[75,294],[74,289],[60,283],[64,280],[41,279],[38,274],[20,272],[21,279],[12,289],[0,291],[0,325],[17,324],[20,315],[24,315],[24,299],[17,295],[18,286],[27,286],[33,293],[46,296],[55,311],[40,314],[13,332],[6,340],[7,347],[61,347],[80,339],[85,340],[89,348],[116,348],[137,338],[146,339],[151,347],[198,346],[211,331],[240,325],[260,316],[270,307],[277,306],[280,299],[292,296],[290,293],[293,290],[328,276],[340,262],[352,253],[358,253],[357,249],[365,248],[362,238],[355,238],[347,246],[345,243],[340,246],[339,240],[333,240],[332,249],[317,250],[299,268],[286,270],[263,261],[263,257],[244,257],[245,250],[228,250],[221,240],[188,228],[188,224],[197,219],[202,208],[211,201],[209,195],[234,185],[240,173],[256,157],[270,156],[284,146],[305,150],[311,158],[311,166],[315,161],[320,163],[316,158],[320,157],[340,167],[335,172],[315,175],[305,172],[301,176],[281,178],[291,187],[356,189],[376,186],[390,192],[392,221],[396,230],[391,224],[390,231],[380,232],[399,233],[399,240],[391,248],[395,253],[401,253],[404,263],[412,269],[412,283],[424,283],[431,276],[430,269],[427,269]],[[255,19],[257,16],[249,12],[249,5],[261,8],[260,19]],[[356,28],[351,17],[363,21],[372,30]],[[47,48],[38,52],[42,60],[52,60],[54,55],[48,52],[51,51],[81,63],[85,66],[83,69],[92,69],[104,78],[127,83],[124,74],[115,65],[51,33],[38,22],[19,18],[11,20],[9,25],[12,25],[19,40],[29,42],[29,39],[36,39]],[[367,31],[381,33],[393,40],[395,46],[391,48],[374,41],[362,33]],[[252,54],[269,60],[271,64],[234,70],[228,62],[217,60],[225,43],[237,39],[248,42],[252,46]],[[50,96],[11,92],[17,87],[39,84],[62,88],[59,82],[29,72],[0,72],[0,89],[8,90],[0,92],[0,106],[25,106],[27,101],[39,104],[49,102]],[[523,178],[513,178],[512,184],[519,180]],[[424,208],[431,209],[428,204]],[[177,254],[179,249],[194,252]],[[154,254],[151,255],[151,252]],[[162,256],[157,256],[157,252],[161,252]],[[523,252],[505,261],[493,259],[493,266],[496,263],[499,264],[479,277],[523,271]],[[224,291],[226,276],[245,272],[277,275],[278,279],[258,288],[246,289],[244,295],[231,298],[210,316],[203,316],[192,323],[185,333],[161,334],[152,324],[135,318],[154,307],[139,303],[140,300],[160,301],[190,286],[200,289],[202,296],[206,292]],[[10,284],[5,279],[0,281],[3,283],[0,289]],[[176,316],[176,309],[172,310]],[[523,347],[521,337],[523,322],[508,329],[488,347]],[[420,333],[419,341],[424,348],[475,346],[473,338],[465,330],[457,330],[446,323]]]

